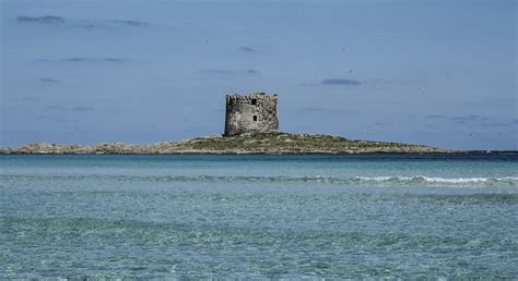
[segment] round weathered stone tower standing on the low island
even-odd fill
[[[279,132],[278,96],[256,93],[226,96],[225,136]]]

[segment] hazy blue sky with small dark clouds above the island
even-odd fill
[[[283,132],[518,149],[517,1],[0,0],[0,146]]]

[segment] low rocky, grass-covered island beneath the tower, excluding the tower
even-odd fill
[[[340,136],[315,134],[244,134],[210,136],[150,145],[105,143],[94,146],[26,144],[17,148],[0,148],[0,154],[408,154],[445,152],[429,146],[388,142],[355,140]]]

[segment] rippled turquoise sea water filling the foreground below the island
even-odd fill
[[[518,156],[0,156],[0,277],[517,278]]]

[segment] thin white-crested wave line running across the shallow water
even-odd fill
[[[0,180],[107,180],[121,182],[214,182],[214,183],[321,183],[373,186],[518,186],[518,176],[435,178],[435,176],[247,176],[247,175],[25,175],[0,174]]]

